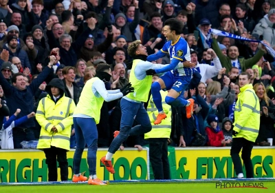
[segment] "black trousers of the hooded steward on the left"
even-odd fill
[[[51,146],[51,148],[44,149],[46,156],[46,163],[48,169],[48,181],[57,181],[57,161],[61,169],[61,181],[68,180],[68,161],[67,161],[67,150],[56,148]]]

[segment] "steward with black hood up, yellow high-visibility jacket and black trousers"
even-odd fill
[[[65,96],[65,86],[61,79],[52,79],[45,91],[48,94],[39,101],[36,111],[36,121],[41,125],[37,149],[45,153],[48,181],[57,181],[56,161],[61,168],[61,181],[67,181],[67,151],[76,105],[73,99]]]

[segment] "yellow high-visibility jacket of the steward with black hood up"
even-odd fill
[[[41,99],[36,111],[36,120],[41,125],[37,149],[43,150],[52,145],[69,151],[75,108],[74,100],[65,94],[57,103],[54,103],[49,94]],[[54,126],[58,132],[52,132]]]

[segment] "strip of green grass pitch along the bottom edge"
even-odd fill
[[[254,181],[253,181],[254,183]],[[234,187],[234,188],[220,188],[217,187],[216,182],[195,182],[194,183],[128,183],[118,184],[111,183],[109,185],[87,185],[87,184],[64,184],[64,185],[1,185],[0,192],[30,192],[30,193],[69,193],[69,192],[96,192],[96,193],[151,193],[151,192],[234,192],[234,193],[261,193],[261,192],[275,192],[275,183],[271,181],[263,181],[265,188],[256,187]]]

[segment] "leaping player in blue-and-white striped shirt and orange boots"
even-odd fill
[[[155,54],[151,54],[147,57],[148,61],[155,61],[161,57],[164,57],[167,53],[170,55],[170,65],[165,68],[157,70],[147,70],[147,75],[159,74],[166,72],[155,83],[152,84],[152,96],[155,106],[159,111],[155,125],[162,122],[162,119],[166,118],[166,114],[162,109],[162,96],[160,94],[161,89],[170,90],[165,98],[165,102],[169,105],[186,106],[186,116],[190,118],[192,115],[192,108],[194,105],[193,99],[185,100],[179,95],[183,94],[184,90],[188,87],[192,74],[195,72],[195,68],[176,68],[179,62],[190,61],[190,49],[188,43],[179,35],[182,29],[181,21],[171,18],[167,19],[164,23],[163,34],[166,37],[167,42],[164,47]],[[185,62],[186,63],[186,62]],[[194,67],[190,62],[190,65]],[[186,65],[184,65],[186,66]],[[171,72],[173,70],[173,72]]]

